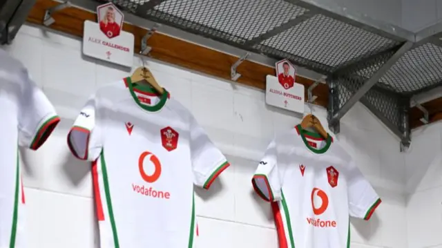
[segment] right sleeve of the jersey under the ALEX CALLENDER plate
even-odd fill
[[[230,164],[194,117],[191,117],[190,147],[194,183],[199,187],[209,189],[218,175]]]

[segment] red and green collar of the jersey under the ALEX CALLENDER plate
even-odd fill
[[[167,99],[170,98],[169,92],[167,92],[167,90],[163,88],[164,93],[162,93],[162,95],[159,96],[160,101],[158,101],[157,104],[153,106],[148,106],[146,104],[142,104],[140,102],[140,99],[138,99],[135,93],[141,93],[148,96],[155,96],[157,94],[154,88],[142,84],[132,84],[131,77],[125,77],[124,84],[126,85],[127,88],[129,88],[129,92],[131,93],[134,101],[138,104],[138,106],[140,106],[146,111],[151,111],[151,112],[159,111],[164,106],[164,104],[166,104]]]

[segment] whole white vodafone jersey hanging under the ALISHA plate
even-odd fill
[[[381,203],[337,143],[298,125],[267,147],[252,184],[271,202],[280,248],[349,247],[349,216],[368,220]]]

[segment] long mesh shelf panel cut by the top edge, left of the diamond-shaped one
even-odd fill
[[[287,10],[289,15],[278,15],[280,8]],[[306,11],[305,8],[287,2],[275,5],[273,1],[260,1],[255,5],[253,1],[237,1],[232,4],[232,1],[169,0],[155,6],[153,10],[148,11],[148,15],[160,19],[169,15],[190,23],[198,23],[236,37],[236,42],[240,42],[258,37],[267,30],[296,19]],[[238,21],[243,17],[247,17],[247,22]]]

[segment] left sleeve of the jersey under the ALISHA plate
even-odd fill
[[[276,142],[272,140],[267,146],[264,158],[262,158],[255,175],[251,180],[253,189],[258,195],[268,201],[275,202],[281,200],[281,180],[278,171],[278,158]]]

